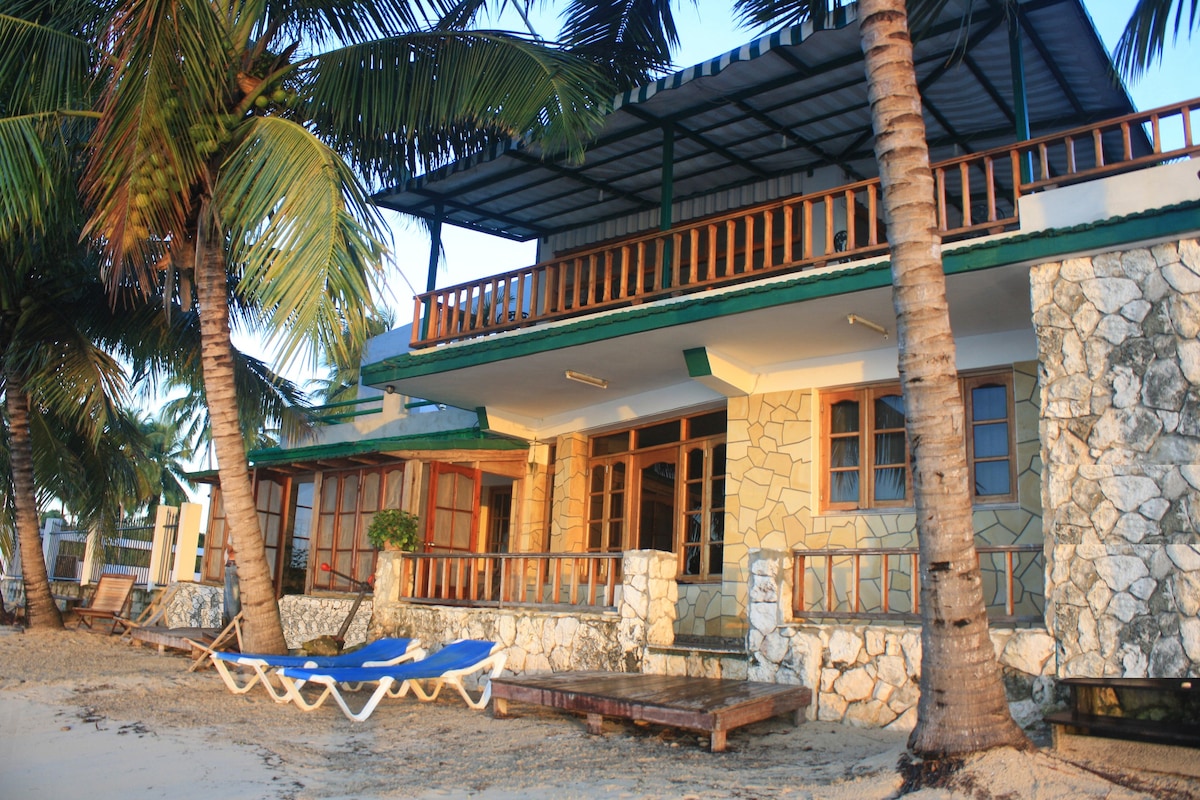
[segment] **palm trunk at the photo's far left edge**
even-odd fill
[[[30,627],[61,628],[62,614],[50,593],[50,577],[42,557],[37,529],[37,494],[34,489],[34,443],[29,433],[29,395],[16,375],[5,381],[8,411],[8,447],[12,463],[12,495],[20,545],[20,575],[25,584],[25,619]]]

